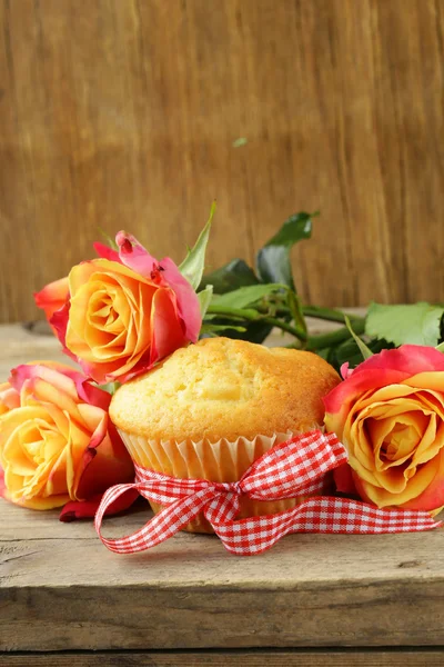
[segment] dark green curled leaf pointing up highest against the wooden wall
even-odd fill
[[[295,213],[291,216],[258,252],[256,269],[262,282],[283,282],[295,290],[290,250],[302,239],[312,235],[312,217],[317,213]]]

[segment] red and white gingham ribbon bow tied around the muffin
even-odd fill
[[[225,549],[252,556],[289,532],[406,532],[441,526],[426,511],[377,509],[347,498],[322,497],[326,472],[346,458],[334,434],[310,431],[274,446],[235,482],[178,479],[137,466],[134,484],[118,485],[104,494],[95,515],[95,530],[111,551],[134,554],[172,537],[203,512]],[[107,539],[100,531],[103,515],[130,489],[165,508],[133,535]],[[314,497],[279,514],[235,520],[243,495],[254,500]]]

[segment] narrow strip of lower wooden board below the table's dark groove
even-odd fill
[[[0,654],[0,667],[441,667],[443,659],[435,650]]]

